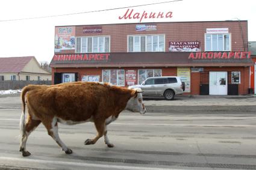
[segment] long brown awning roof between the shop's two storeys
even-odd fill
[[[75,60],[73,59],[75,55],[83,55],[83,58]],[[90,59],[92,58],[90,55],[98,56]],[[104,53],[102,56],[99,55],[101,54],[55,55],[57,59],[54,56],[50,65],[51,67],[238,67],[253,64],[251,58],[192,59],[189,58],[190,52],[108,53],[107,59],[104,59]]]

